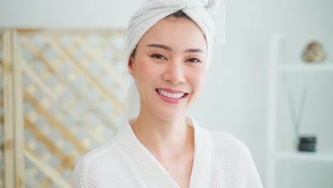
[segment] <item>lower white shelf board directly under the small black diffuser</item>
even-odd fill
[[[275,154],[277,160],[297,160],[313,162],[333,162],[333,151],[327,152],[297,152],[284,151]]]

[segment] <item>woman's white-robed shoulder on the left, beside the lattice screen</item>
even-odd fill
[[[90,187],[102,184],[107,174],[117,172],[122,153],[117,147],[115,138],[97,147],[80,158],[73,172],[73,187]]]

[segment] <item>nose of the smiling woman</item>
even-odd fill
[[[169,61],[163,79],[173,84],[185,83],[185,67],[179,60]]]

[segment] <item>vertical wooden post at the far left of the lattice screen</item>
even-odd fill
[[[1,186],[23,187],[21,73],[15,32],[1,31]],[[18,147],[20,146],[20,147]]]

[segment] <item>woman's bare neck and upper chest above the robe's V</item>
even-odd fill
[[[168,121],[141,111],[132,129],[142,145],[158,158],[169,159],[194,150],[194,130],[186,125],[185,116]]]

